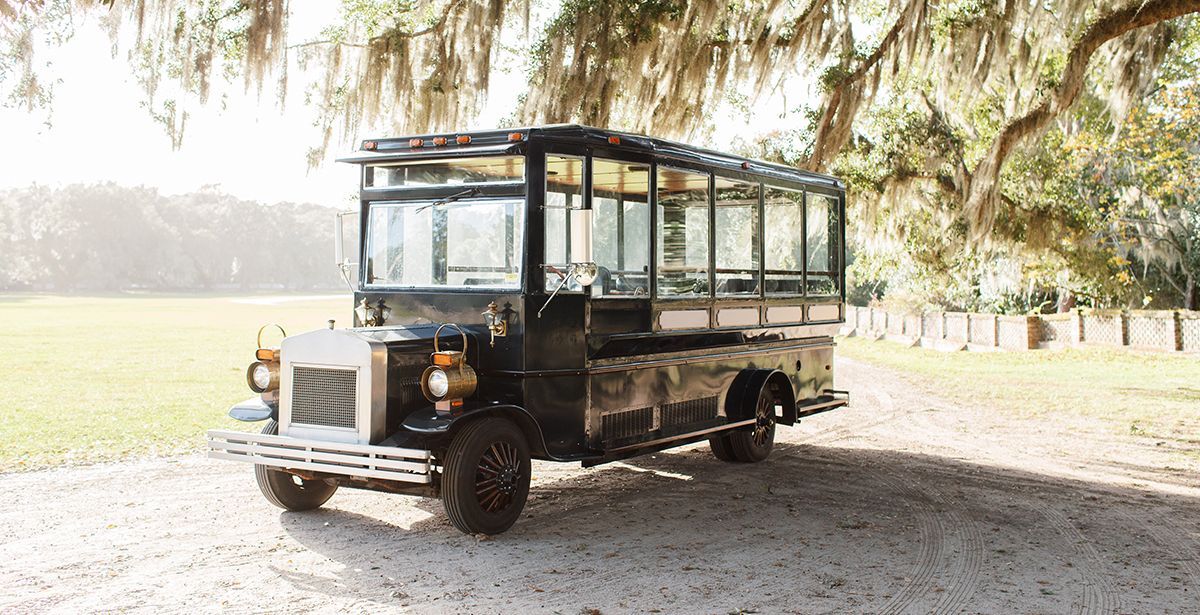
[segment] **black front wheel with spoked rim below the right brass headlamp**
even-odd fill
[[[442,474],[446,517],[466,533],[500,533],[529,495],[529,444],[511,420],[469,423],[450,441]]]

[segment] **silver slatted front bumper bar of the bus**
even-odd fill
[[[428,484],[430,452],[242,431],[209,431],[209,456],[284,470]]]

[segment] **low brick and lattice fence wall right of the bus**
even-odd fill
[[[1200,352],[1200,312],[1082,310],[1001,316],[967,312],[914,314],[851,305],[846,308],[844,333],[977,350],[1100,345]]]

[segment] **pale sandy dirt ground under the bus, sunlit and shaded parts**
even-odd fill
[[[202,456],[0,476],[0,611],[1200,611],[1194,456],[839,370],[853,406],[764,464],[539,462],[494,539],[366,491],[281,513]]]

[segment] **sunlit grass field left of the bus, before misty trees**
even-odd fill
[[[226,412],[253,395],[258,328],[346,326],[350,303],[0,295],[0,472],[197,450],[206,429],[253,429]]]

